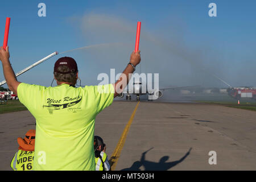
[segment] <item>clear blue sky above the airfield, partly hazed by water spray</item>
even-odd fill
[[[46,4],[46,17],[38,16],[40,2]],[[211,2],[217,5],[217,17],[208,16],[208,5]],[[197,67],[220,76],[234,86],[256,86],[255,5],[255,1],[213,0],[3,1],[0,12],[0,42],[1,44],[3,42],[5,20],[9,16],[11,25],[8,44],[10,60],[15,72],[54,51],[62,52],[108,42],[129,44],[130,47],[108,47],[106,49],[108,51],[84,50],[57,55],[18,77],[22,82],[49,86],[53,78],[55,61],[61,56],[71,56],[79,65],[82,84],[98,84],[98,73],[109,73],[110,68],[116,68],[121,72],[125,68],[130,52],[134,49],[137,21],[140,20],[142,71],[159,73],[160,82],[162,81],[164,86],[193,84],[225,86]],[[101,25],[85,24],[90,19],[104,20],[104,17],[110,22],[117,20],[121,25],[127,24],[125,29],[127,32],[118,32],[115,29],[114,31],[117,32],[110,34],[106,32],[109,31],[108,25],[101,27]],[[129,27],[134,32],[129,31]],[[148,42],[145,34],[148,35]],[[159,45],[175,43],[171,49],[177,49],[176,54],[172,52],[173,50],[168,54],[169,51],[150,42],[149,38],[161,39]],[[148,44],[154,45],[149,47]],[[175,45],[177,47],[174,47]],[[150,60],[152,56],[149,56],[150,53],[153,54],[152,50],[156,51],[154,60]],[[187,57],[177,53],[184,51],[187,51],[184,53],[188,55]],[[112,59],[112,56],[115,58]],[[143,62],[143,56],[148,58],[147,61]],[[195,59],[198,56],[200,60]],[[0,81],[2,81],[4,80],[2,67],[0,72]]]

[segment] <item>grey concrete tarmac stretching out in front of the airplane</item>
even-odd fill
[[[109,159],[136,105],[114,101],[97,115],[95,135]],[[255,118],[255,111],[220,105],[142,101],[115,170],[256,170]],[[34,123],[29,111],[0,114],[0,170],[11,169],[16,139]],[[210,151],[217,164],[209,164]]]

